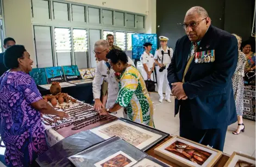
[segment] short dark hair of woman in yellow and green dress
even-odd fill
[[[118,61],[121,61],[123,63],[127,63],[128,62],[128,57],[126,55],[125,52],[123,52],[122,50],[118,50],[118,49],[112,49],[108,52],[107,59],[111,59],[111,62],[113,64],[116,64]]]

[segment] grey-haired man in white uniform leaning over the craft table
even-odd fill
[[[98,60],[95,72],[95,78],[92,82],[92,91],[93,97],[95,99],[94,109],[96,111],[104,108],[100,97],[101,97],[101,85],[105,80],[108,82],[108,101],[106,104],[106,108],[111,108],[116,101],[117,93],[118,93],[118,82],[116,81],[115,71],[110,68],[110,64],[108,63],[108,59],[106,55],[109,52],[109,43],[104,39],[97,41],[94,45],[95,57]],[[132,59],[128,57],[128,64],[133,66],[134,63]],[[126,115],[124,115],[125,117]]]

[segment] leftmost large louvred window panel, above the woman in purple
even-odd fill
[[[51,26],[34,26],[35,52],[38,68],[53,66],[51,34]]]

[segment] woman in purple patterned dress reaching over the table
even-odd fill
[[[6,147],[8,166],[33,166],[47,148],[41,113],[68,117],[43,101],[35,81],[27,73],[33,61],[23,45],[14,45],[4,53],[8,70],[0,77],[1,138]]]

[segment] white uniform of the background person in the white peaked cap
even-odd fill
[[[173,55],[173,50],[172,48],[169,48],[167,46],[166,51],[164,51],[164,60],[163,60],[163,55],[161,53],[161,51],[163,50],[163,48],[161,47],[160,49],[155,51],[155,55],[154,55],[154,59],[156,59],[159,63],[166,65],[166,68],[164,69],[163,72],[159,72],[160,67],[157,66],[156,70],[157,70],[157,76],[158,76],[158,94],[160,96],[160,99],[164,99],[163,96],[163,84],[165,83],[165,99],[170,99],[170,94],[171,94],[171,88],[170,85],[168,83],[168,79],[167,79],[167,69],[168,66],[171,63],[171,58]],[[168,55],[168,50],[170,50],[170,56]],[[160,60],[159,60],[160,58]],[[162,61],[164,61],[162,63]]]

